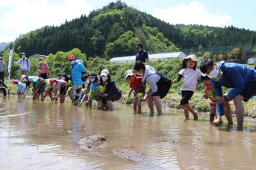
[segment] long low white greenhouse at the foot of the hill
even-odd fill
[[[168,59],[184,59],[186,58],[184,52],[171,52],[171,53],[153,53],[148,54],[148,60],[168,60]],[[126,57],[114,57],[110,59],[111,62],[135,62],[136,55],[126,56]]]

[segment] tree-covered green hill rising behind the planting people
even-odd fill
[[[28,56],[67,52],[77,47],[88,57],[110,58],[134,55],[138,42],[149,53],[230,52],[235,47],[253,50],[255,36],[256,32],[236,27],[171,25],[116,1],[59,27],[45,26],[29,32],[17,38],[13,45],[15,52],[26,52]]]

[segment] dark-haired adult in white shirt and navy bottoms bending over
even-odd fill
[[[154,67],[143,64],[143,62],[136,62],[134,70],[137,74],[141,75],[142,81],[147,81],[150,89],[147,95],[143,97],[143,101],[148,101],[148,108],[151,113],[154,113],[154,103],[157,108],[157,113],[162,113],[162,106],[160,99],[163,99],[168,94],[172,86],[172,80],[168,77],[156,72]]]

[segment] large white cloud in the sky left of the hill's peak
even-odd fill
[[[41,0],[2,0],[0,6],[15,4],[5,13],[1,27],[24,34],[45,25],[60,25],[65,20],[88,15],[92,6],[84,0],[65,0],[63,4],[52,4],[51,1]]]

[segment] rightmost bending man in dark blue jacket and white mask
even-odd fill
[[[236,108],[237,128],[243,128],[244,106],[242,101],[247,102],[256,94],[256,70],[243,64],[225,61],[216,63],[211,59],[205,59],[200,64],[200,70],[211,76],[212,85],[217,92],[218,99],[215,102],[217,119],[214,122],[220,122],[221,113],[224,112],[228,124],[233,124],[229,105],[229,102],[233,100]],[[227,87],[230,90],[223,96],[221,87]]]

